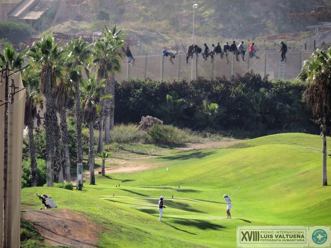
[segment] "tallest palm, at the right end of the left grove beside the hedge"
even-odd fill
[[[105,95],[115,96],[115,72],[121,72],[120,60],[123,58],[124,41],[122,30],[116,26],[112,30],[105,27],[102,38],[97,38],[93,44],[93,63],[98,65],[98,79],[105,79]],[[104,142],[110,142],[110,130],[114,129],[115,98],[102,101],[103,111],[100,124],[103,126],[105,120]],[[102,138],[102,128],[99,131],[99,139]],[[102,142],[98,144],[98,152],[102,151]]]

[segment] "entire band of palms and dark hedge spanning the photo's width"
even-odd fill
[[[117,123],[137,123],[146,115],[178,127],[209,132],[226,130],[233,136],[242,130],[254,136],[283,131],[316,133],[317,117],[323,137],[323,185],[327,184],[331,49],[317,50],[305,62],[299,80],[269,81],[249,72],[231,79],[174,82],[134,79],[118,83],[115,73],[121,71],[124,35],[116,26],[105,27],[102,33],[103,37],[97,37],[93,44],[73,39],[64,47],[55,44],[52,36],[44,35],[29,50],[16,53],[9,46],[0,53],[1,68],[9,64],[11,69],[23,72],[32,186],[36,185],[33,123],[38,104],[45,108],[47,186],[50,187],[54,181],[71,181],[67,111],[73,107],[77,163],[83,160],[82,123],[89,127],[90,184],[95,184],[94,129],[99,131],[97,152],[101,153],[103,142],[110,142],[114,116]],[[26,65],[25,57],[29,59]]]

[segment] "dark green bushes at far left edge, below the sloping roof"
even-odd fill
[[[25,43],[26,37],[31,36],[30,28],[23,23],[0,22],[0,39],[7,39],[13,44]]]

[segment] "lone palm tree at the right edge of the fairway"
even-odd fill
[[[298,78],[307,82],[303,100],[319,118],[323,143],[322,185],[328,185],[327,179],[327,134],[326,118],[331,110],[331,48],[328,51],[317,49],[311,60],[305,61]]]

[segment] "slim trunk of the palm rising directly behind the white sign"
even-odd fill
[[[77,133],[77,163],[83,162],[83,143],[81,140],[81,111],[79,98],[79,82],[75,83],[75,106],[76,106],[76,133]]]

